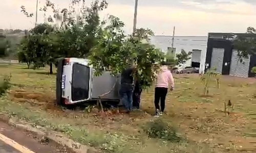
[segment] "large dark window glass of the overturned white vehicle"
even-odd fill
[[[72,70],[72,101],[89,98],[90,68],[78,63],[73,64]]]

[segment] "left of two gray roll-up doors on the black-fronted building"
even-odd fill
[[[216,68],[218,73],[222,73],[224,58],[224,48],[212,48],[210,68]]]

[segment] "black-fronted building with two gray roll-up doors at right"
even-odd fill
[[[233,47],[233,40],[239,37],[256,38],[256,34],[209,33],[205,68],[216,68],[223,75],[236,77],[254,77],[251,68],[256,66],[256,55],[240,58]]]

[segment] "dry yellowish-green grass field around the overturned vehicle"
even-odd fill
[[[94,109],[67,110],[54,105],[55,75],[48,69],[30,70],[21,65],[0,65],[1,75],[12,75],[12,88],[0,99],[0,111],[27,120],[34,125],[60,131],[70,138],[104,152],[248,152],[252,148],[252,120],[256,109],[256,80],[223,76],[220,88],[211,83],[209,95],[203,95],[198,74],[175,75],[176,88],[166,99],[162,120],[184,138],[175,143],[148,138],[143,131],[155,120],[154,90],[142,93],[143,112],[100,116]],[[225,116],[224,103],[230,100],[234,110]],[[254,151],[252,151],[254,152]]]

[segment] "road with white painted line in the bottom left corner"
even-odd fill
[[[53,142],[40,143],[28,132],[0,121],[0,153],[73,153]]]

